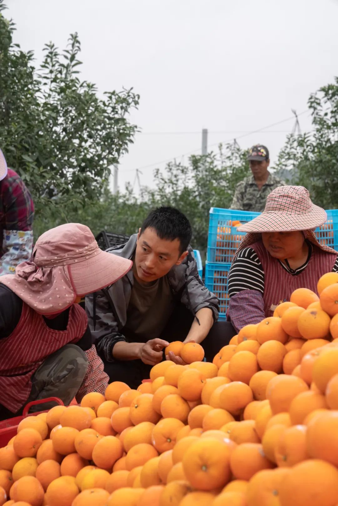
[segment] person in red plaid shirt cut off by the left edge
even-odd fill
[[[34,204],[18,174],[7,167],[0,149],[0,276],[13,274],[29,260],[33,247]]]

